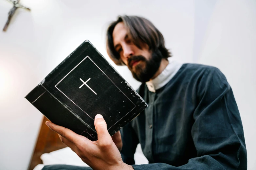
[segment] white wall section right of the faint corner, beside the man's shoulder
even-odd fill
[[[233,90],[247,146],[248,169],[256,169],[256,1],[218,1],[197,62],[217,66]]]

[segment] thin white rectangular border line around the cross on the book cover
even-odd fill
[[[92,61],[92,59],[91,59],[89,56],[86,56],[79,64],[81,64],[87,57]],[[93,62],[93,61],[92,61],[92,62]],[[94,63],[94,62],[93,62],[93,63]],[[71,73],[79,64],[77,64],[69,73]],[[94,63],[94,64],[95,64],[95,63]],[[100,67],[99,67],[97,64],[95,64],[95,65],[100,69]],[[100,70],[101,70],[101,69],[100,69]],[[102,70],[101,70],[101,72],[119,89],[119,87],[118,87]],[[69,73],[68,73],[68,74],[69,74]],[[68,74],[67,74],[67,75],[68,75]],[[65,75],[64,78],[65,78],[67,75]],[[64,94],[64,93],[57,87],[57,85],[58,85],[64,78],[62,78],[62,79],[55,85],[55,87],[56,87],[62,94]],[[119,89],[119,90],[120,90],[120,89]],[[122,91],[120,90],[120,92],[122,92]],[[123,92],[122,92],[122,93],[123,93]],[[123,94],[124,94],[124,93],[123,93]],[[124,95],[125,95],[125,94],[124,94]],[[66,95],[64,94],[64,96],[66,96]],[[125,95],[125,96],[126,96],[126,95]],[[67,96],[66,96],[66,97],[67,97]],[[127,96],[126,96],[126,97],[127,97]],[[73,102],[69,97],[67,97],[67,98],[68,98],[72,103],[74,103],[78,108],[80,108],[80,107],[79,107],[75,102]],[[128,97],[127,97],[127,98],[128,98]],[[130,100],[130,99],[128,98],[128,100]],[[131,100],[130,100],[130,101],[131,101]],[[132,102],[132,101],[131,101],[131,102]],[[136,107],[136,105],[135,105],[133,102],[132,102],[132,104]],[[135,107],[134,107],[134,108],[135,108]],[[133,109],[134,109],[134,108],[133,108]],[[82,110],[82,108],[80,108],[80,109]],[[132,109],[132,110],[133,110],[133,109]],[[128,113],[130,113],[132,110],[130,110]],[[83,110],[82,110],[82,111],[83,111]],[[94,119],[93,119],[90,115],[88,115],[85,111],[83,111],[83,112],[84,112],[87,116],[89,116],[92,120],[94,120]],[[128,114],[128,113],[127,113],[127,114]],[[126,115],[127,115],[127,114],[126,114]],[[124,116],[126,116],[126,115],[124,115]],[[124,116],[123,116],[123,117],[124,117]],[[122,117],[122,118],[123,118],[123,117]],[[122,119],[122,118],[121,118],[121,119]],[[121,119],[120,119],[120,120],[121,120]],[[119,121],[119,120],[118,120],[118,121]],[[118,121],[117,121],[117,122],[118,122]],[[116,122],[116,123],[117,123],[117,122]],[[116,123],[115,123],[115,124],[116,124]],[[114,126],[115,124],[113,124],[112,126]],[[111,126],[111,127],[112,127],[112,126]],[[111,127],[110,127],[110,128],[111,128]],[[108,128],[108,130],[109,130],[110,128]]]

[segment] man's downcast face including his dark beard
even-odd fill
[[[158,70],[161,58],[152,54],[146,44],[141,44],[141,49],[134,45],[123,22],[115,26],[112,36],[115,50],[133,77],[141,82],[149,81]]]

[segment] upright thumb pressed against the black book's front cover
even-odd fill
[[[94,126],[96,129],[96,132],[98,134],[98,140],[99,141],[106,141],[106,140],[112,140],[111,136],[108,133],[107,130],[107,123],[103,119],[102,115],[97,114],[94,119]]]

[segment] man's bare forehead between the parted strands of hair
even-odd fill
[[[113,30],[113,34],[112,34],[112,37],[113,37],[113,43],[114,43],[114,46],[116,46],[117,44],[119,44],[121,41],[124,40],[124,37],[127,35],[127,31],[126,31],[126,28],[124,26],[124,23],[123,22],[119,22],[114,30]]]

